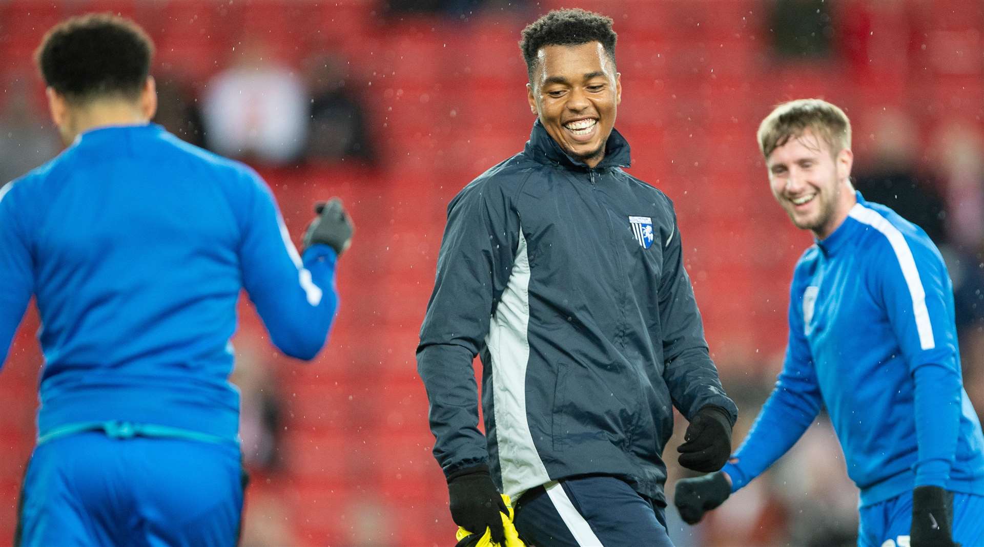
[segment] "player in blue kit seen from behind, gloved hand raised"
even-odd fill
[[[149,123],[153,50],[129,20],[88,15],[36,52],[69,148],[0,188],[0,363],[31,294],[45,357],[20,545],[234,545],[239,293],[294,357],[335,318],[340,204],[298,254],[255,172]]]

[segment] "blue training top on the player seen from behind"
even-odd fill
[[[335,263],[325,245],[301,260],[245,165],[153,124],[94,129],[0,188],[0,365],[33,293],[39,436],[117,420],[234,441],[240,290],[278,348],[311,359],[335,317]]]

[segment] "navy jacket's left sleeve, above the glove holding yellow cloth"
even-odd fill
[[[520,219],[501,192],[472,184],[448,208],[434,292],[420,328],[417,371],[430,402],[434,456],[450,474],[485,463],[471,363],[485,344],[519,246]]]

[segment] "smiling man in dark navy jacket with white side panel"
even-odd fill
[[[452,201],[417,363],[434,455],[464,528],[535,545],[670,545],[663,447],[717,470],[737,415],[683,268],[672,202],[626,173],[611,20],[554,11],[523,30],[537,119],[523,152]],[[472,359],[483,363],[485,434]]]

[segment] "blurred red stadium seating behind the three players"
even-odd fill
[[[179,75],[196,92],[226,66],[244,35],[267,38],[277,58],[298,70],[323,49],[350,61],[378,163],[258,166],[295,240],[311,203],[334,195],[357,231],[339,263],[338,321],[314,362],[278,355],[248,299],[240,305],[234,343],[272,367],[283,399],[282,461],[254,472],[247,543],[452,542],[455,527],[430,455],[427,400],[415,370],[417,331],[448,201],[519,152],[528,136],[533,118],[520,31],[572,3],[492,4],[449,17],[387,15],[369,1],[0,1],[0,75],[28,84],[38,123],[46,123],[46,111],[31,53],[45,30],[83,12],[134,18],[156,42],[154,72]],[[811,239],[772,202],[755,141],[759,121],[782,100],[826,98],[852,118],[859,162],[882,137],[869,121],[880,110],[910,116],[921,151],[932,150],[934,131],[954,119],[980,129],[981,4],[835,3],[835,50],[808,61],[771,53],[770,2],[577,4],[615,21],[623,84],[616,127],[633,148],[630,172],[676,203],[725,387],[731,379],[768,385],[784,347],[792,266]],[[11,100],[4,91],[0,101]],[[934,161],[930,152],[913,159]],[[13,534],[33,442],[42,365],[37,328],[31,310],[0,375],[0,544]],[[754,408],[743,411],[746,419],[754,416]],[[788,536],[762,541],[781,537]]]

